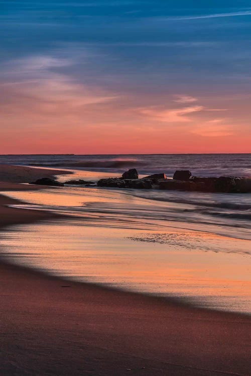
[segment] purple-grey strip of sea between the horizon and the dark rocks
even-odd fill
[[[0,163],[142,174],[189,169],[195,176],[251,176],[251,154],[0,155]]]

